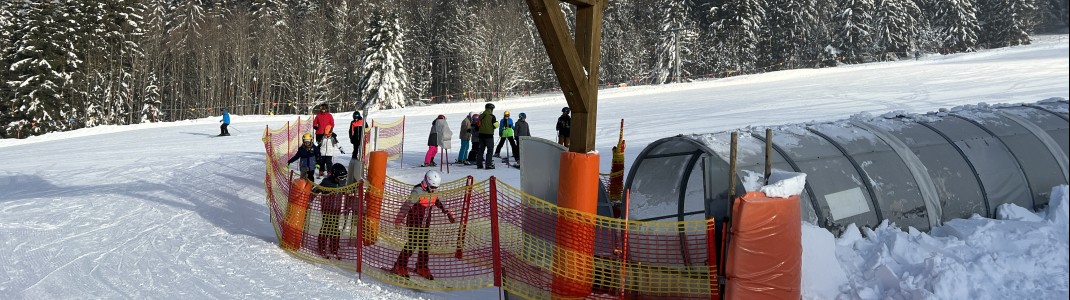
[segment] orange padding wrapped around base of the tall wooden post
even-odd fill
[[[598,214],[598,154],[561,153],[557,172],[557,206],[588,213],[587,218],[557,215],[553,254],[552,297],[583,298],[591,295],[594,272],[595,215]]]

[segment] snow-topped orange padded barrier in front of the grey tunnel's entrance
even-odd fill
[[[735,200],[725,264],[727,299],[800,297],[802,227],[799,196],[750,192]]]

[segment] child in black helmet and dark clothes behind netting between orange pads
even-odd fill
[[[346,177],[349,171],[342,164],[331,166],[331,176],[320,181],[323,188],[341,188],[346,185]],[[338,227],[338,216],[341,214],[342,196],[341,193],[328,193],[326,191],[312,190],[320,195],[322,218],[320,219],[320,232],[316,237],[316,253],[323,258],[339,257],[338,244],[341,238],[341,229]]]

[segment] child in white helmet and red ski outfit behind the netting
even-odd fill
[[[429,170],[424,174],[424,180],[412,188],[408,200],[401,205],[398,215],[394,220],[395,225],[401,224],[408,229],[407,241],[398,260],[394,262],[392,271],[400,276],[409,278],[409,257],[416,252],[416,274],[428,280],[434,280],[431,269],[428,268],[430,255],[430,225],[431,206],[439,207],[442,213],[446,214],[449,223],[454,223],[454,214],[442,205],[439,199],[439,184],[442,183],[442,175],[437,170]]]

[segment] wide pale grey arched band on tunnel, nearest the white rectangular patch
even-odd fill
[[[914,177],[914,181],[918,184],[918,192],[921,193],[921,198],[926,201],[926,210],[929,211],[929,228],[939,226],[943,223],[941,220],[944,218],[944,209],[939,205],[939,193],[936,192],[936,185],[933,184],[933,179],[929,176],[929,169],[921,163],[921,159],[917,154],[914,154],[911,147],[891,135],[891,133],[859,121],[852,121],[851,123],[876,135],[891,147],[891,151],[895,151],[900,160],[903,160],[906,169],[911,171],[911,176]]]

